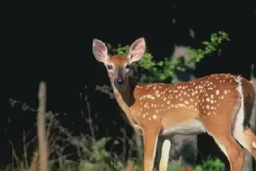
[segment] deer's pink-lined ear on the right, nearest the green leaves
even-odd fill
[[[140,60],[140,58],[143,57],[145,51],[146,42],[143,37],[134,41],[129,47],[129,54],[127,56],[129,63],[133,63],[135,61]]]

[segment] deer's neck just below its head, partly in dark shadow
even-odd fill
[[[122,110],[127,113],[129,112],[129,107],[135,103],[135,98],[133,92],[135,90],[136,84],[132,83],[132,80],[128,77],[126,83],[126,89],[118,90],[114,84],[112,84],[113,92],[118,102],[118,105]]]

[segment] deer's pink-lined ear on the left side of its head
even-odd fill
[[[102,41],[99,39],[94,39],[92,41],[92,52],[94,53],[94,57],[102,63],[105,63],[108,57],[108,49]]]

